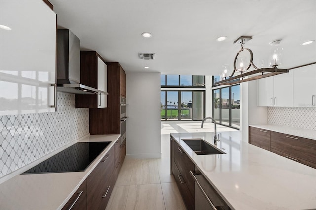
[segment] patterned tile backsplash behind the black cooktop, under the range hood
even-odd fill
[[[0,178],[89,134],[89,109],[57,92],[57,112],[0,116]]]

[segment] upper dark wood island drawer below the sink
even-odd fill
[[[194,196],[194,180],[190,175],[190,171],[194,171],[194,163],[188,157],[188,155],[183,151],[183,149],[178,145],[176,141],[174,148],[174,161],[178,167],[184,181],[186,182],[188,189],[190,190],[192,196]]]

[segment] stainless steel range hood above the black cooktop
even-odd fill
[[[68,29],[57,30],[57,90],[76,94],[107,94],[80,83],[80,40]]]

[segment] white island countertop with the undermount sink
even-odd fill
[[[316,169],[240,141],[240,131],[218,133],[217,147],[226,154],[196,155],[181,140],[201,138],[214,145],[213,132],[171,135],[231,207],[236,210],[316,208]]]

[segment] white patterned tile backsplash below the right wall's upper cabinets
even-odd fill
[[[268,107],[268,123],[316,130],[316,108]]]

